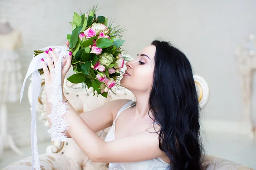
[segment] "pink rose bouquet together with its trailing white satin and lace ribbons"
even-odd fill
[[[67,78],[67,80],[72,83],[83,83],[87,88],[92,87],[94,94],[96,91],[98,95],[101,94],[104,97],[107,97],[108,92],[112,91],[111,88],[118,85],[116,82],[120,77],[119,71],[123,67],[125,60],[128,60],[128,57],[122,56],[121,50],[121,46],[124,43],[121,37],[125,30],[119,28],[119,26],[112,26],[113,22],[108,24],[108,18],[104,16],[96,17],[96,8],[93,7],[88,13],[80,15],[74,12],[73,22],[71,22],[72,33],[67,35],[67,40],[70,44],[69,48],[66,45],[49,46],[34,51],[33,59],[30,62],[20,92],[21,102],[26,79],[32,74],[32,170],[41,169],[35,122],[36,103],[41,90],[41,74],[44,73],[41,62],[46,58],[44,51],[52,48],[58,57],[58,60],[54,63],[54,68],[51,70],[51,75],[54,77],[51,87],[54,92],[47,100],[51,106],[51,112],[47,117],[51,122],[48,133],[52,141],[67,141],[65,132],[68,130],[69,125],[64,116],[68,113],[68,105],[63,102],[61,93],[61,69],[66,64],[70,51],[72,52],[71,65],[75,74]],[[46,65],[48,67],[47,61]]]

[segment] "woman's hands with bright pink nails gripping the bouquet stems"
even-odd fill
[[[43,65],[43,70],[44,70],[45,88],[46,88],[48,99],[52,98],[49,95],[54,94],[54,91],[53,91],[51,85],[52,85],[52,78],[55,76],[54,72],[51,73],[52,69],[55,66],[52,62],[50,54],[52,56],[52,59],[53,59],[54,63],[57,63],[57,61],[58,61],[58,57],[57,57],[55,51],[52,50],[52,48],[49,48],[49,50],[45,51],[45,55],[46,55],[49,70],[47,68],[46,63],[44,62],[44,59],[41,59],[42,60],[42,65]],[[67,72],[69,71],[69,69],[71,67],[71,59],[72,59],[72,52],[70,51],[69,56],[67,58],[67,62],[65,63],[64,67],[61,70],[61,80],[62,80],[61,86],[62,87],[63,87],[63,82],[64,82],[65,75],[67,74]]]

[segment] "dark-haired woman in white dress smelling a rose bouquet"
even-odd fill
[[[49,53],[58,59],[51,49]],[[71,66],[71,55],[62,77]],[[42,64],[49,87],[50,73]],[[113,100],[80,115],[67,102],[67,136],[92,161],[115,162],[110,170],[203,169],[198,96],[189,60],[169,42],[155,40],[126,66],[120,83],[137,102]],[[49,113],[49,104],[47,108]],[[95,133],[110,126],[102,141]]]

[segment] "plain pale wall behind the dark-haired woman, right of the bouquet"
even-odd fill
[[[130,30],[129,54],[136,56],[156,37],[172,41],[209,83],[207,118],[241,119],[235,51],[256,31],[255,0],[129,0],[118,6],[117,20]]]

